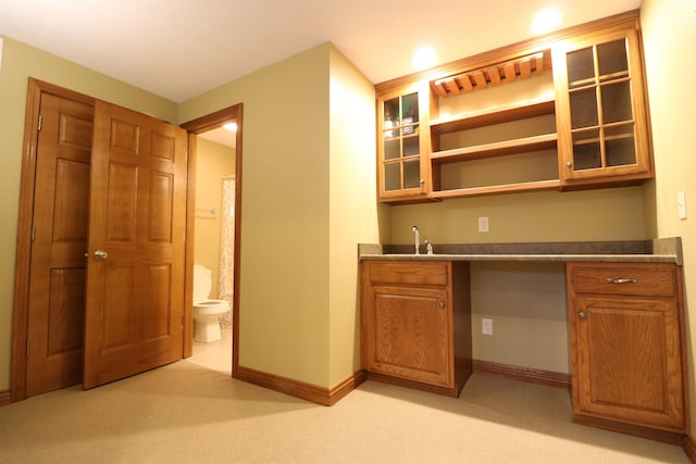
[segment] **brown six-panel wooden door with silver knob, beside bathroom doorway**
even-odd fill
[[[183,358],[186,155],[184,129],[97,101],[84,388]]]

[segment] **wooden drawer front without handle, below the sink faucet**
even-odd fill
[[[445,262],[365,262],[370,284],[447,285]]]

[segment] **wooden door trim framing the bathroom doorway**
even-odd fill
[[[182,124],[188,130],[188,196],[186,204],[186,278],[184,317],[184,355],[192,354],[194,321],[194,222],[196,213],[196,136],[210,129],[221,127],[229,120],[237,122],[235,147],[235,243],[234,243],[234,283],[232,298],[232,376],[238,377],[239,367],[239,268],[241,243],[241,128],[243,103],[224,108],[196,120]]]

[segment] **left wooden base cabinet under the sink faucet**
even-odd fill
[[[469,264],[365,261],[361,281],[368,378],[459,396],[471,375]]]

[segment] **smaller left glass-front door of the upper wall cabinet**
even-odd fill
[[[411,86],[377,98],[378,192],[382,201],[413,200],[427,192],[427,93]],[[424,100],[425,98],[425,100]]]

